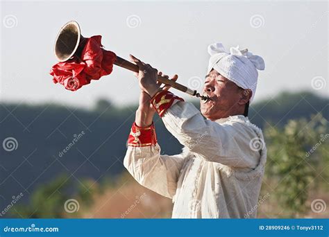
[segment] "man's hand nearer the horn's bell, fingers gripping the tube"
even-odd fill
[[[130,58],[131,61],[135,62],[135,64],[140,68],[140,71],[135,73],[135,76],[139,80],[140,89],[149,94],[149,96],[153,97],[160,90],[160,85],[157,83],[158,70],[151,67],[150,64],[145,64],[131,54]]]

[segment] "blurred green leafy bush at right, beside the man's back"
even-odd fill
[[[315,144],[328,134],[326,123],[326,119],[317,114],[310,121],[291,120],[282,129],[270,126],[265,129],[268,144],[265,173],[267,179],[276,182],[273,189],[278,204],[290,217],[305,212],[309,190],[321,172],[320,164],[327,162],[328,166],[328,153],[320,149],[325,145],[321,143],[319,150],[315,148]]]

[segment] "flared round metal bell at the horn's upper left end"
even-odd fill
[[[60,28],[54,46],[54,53],[59,62],[65,62],[74,55],[80,57],[85,42],[78,22],[69,21]]]

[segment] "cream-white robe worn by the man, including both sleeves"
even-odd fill
[[[264,143],[252,144],[264,141],[260,128],[243,115],[205,120],[184,101],[162,121],[185,148],[160,155],[158,143],[129,146],[124,166],[137,182],[172,198],[172,218],[255,218],[267,158]]]

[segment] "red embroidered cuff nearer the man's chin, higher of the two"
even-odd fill
[[[159,116],[162,117],[175,100],[184,101],[183,98],[175,96],[170,91],[159,91],[151,98],[151,103],[155,107]]]

